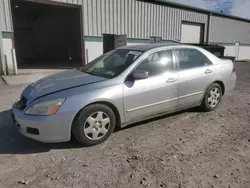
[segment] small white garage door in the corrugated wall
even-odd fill
[[[181,42],[199,44],[201,39],[201,26],[193,24],[181,25]]]

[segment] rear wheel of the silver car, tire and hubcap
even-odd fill
[[[219,106],[221,98],[222,98],[221,86],[217,83],[212,83],[207,88],[204,94],[201,108],[206,112],[213,111]]]

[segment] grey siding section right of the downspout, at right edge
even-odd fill
[[[209,42],[250,44],[250,23],[211,16]]]

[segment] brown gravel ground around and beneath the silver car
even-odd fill
[[[20,86],[0,86],[0,187],[250,187],[250,63],[214,112],[191,109],[115,132],[103,144],[42,144],[10,118]]]

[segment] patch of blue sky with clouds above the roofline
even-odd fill
[[[206,10],[250,19],[250,0],[169,0]]]

